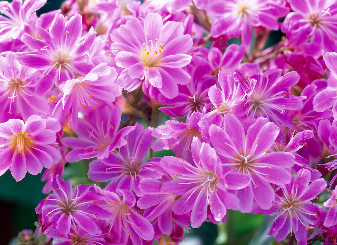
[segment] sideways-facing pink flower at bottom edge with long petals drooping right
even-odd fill
[[[108,220],[106,229],[112,234],[113,241],[126,244],[142,245],[142,239],[150,241],[154,236],[154,229],[150,221],[134,211],[136,198],[129,190],[117,189],[114,192],[100,189],[95,186],[97,192],[104,195],[105,203],[100,207],[113,214]]]

